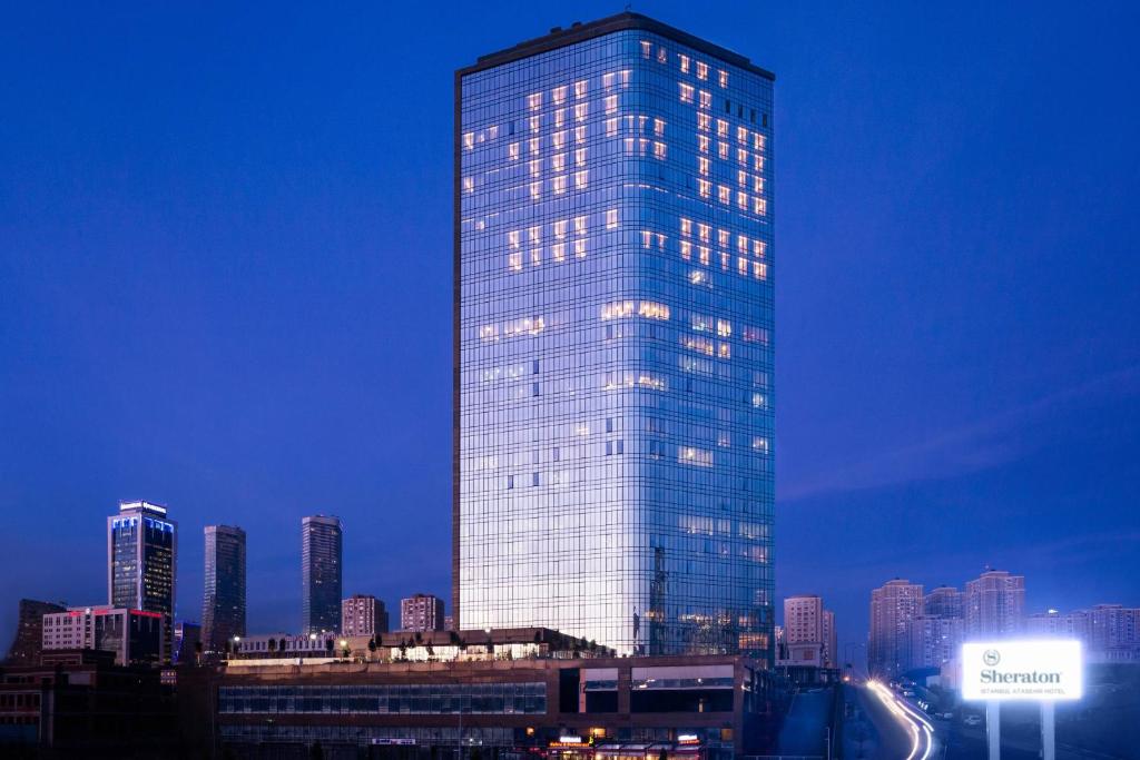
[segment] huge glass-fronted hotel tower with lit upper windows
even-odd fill
[[[773,79],[630,13],[457,72],[457,627],[771,662]]]

